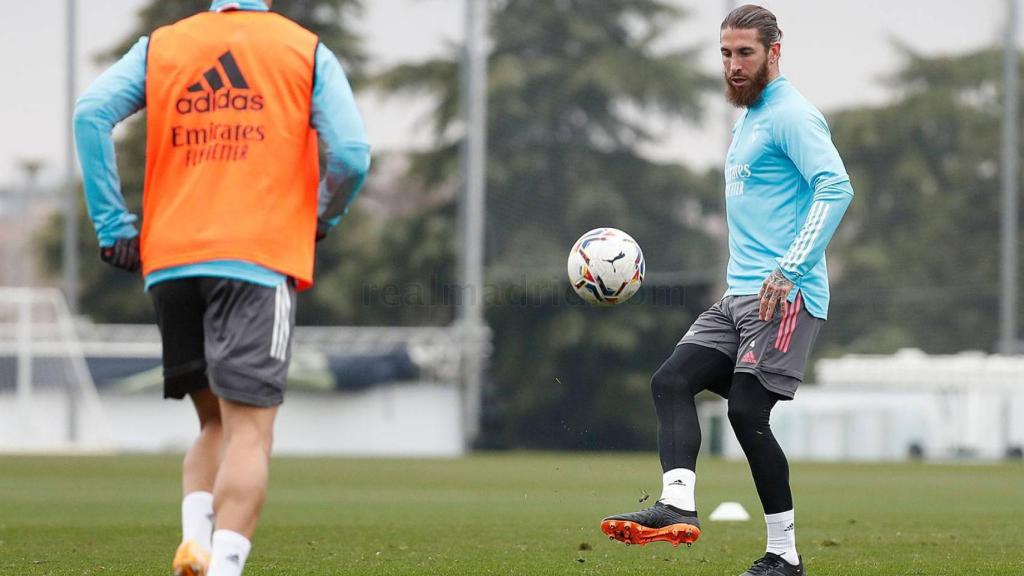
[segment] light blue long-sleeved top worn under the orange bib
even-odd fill
[[[266,11],[262,0],[215,0],[211,11]],[[99,76],[75,105],[75,143],[82,163],[85,203],[99,245],[138,235],[137,216],[121,194],[114,152],[114,126],[145,108],[145,61],[150,39],[142,37],[120,60]],[[316,46],[310,125],[327,151],[327,167],[318,191],[318,229],[338,223],[355,200],[370,169],[370,145],[348,78],[324,44]],[[310,242],[312,239],[310,239]],[[166,280],[213,276],[274,287],[285,276],[244,260],[213,260],[154,271],[145,289]]]

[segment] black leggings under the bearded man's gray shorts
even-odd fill
[[[733,372],[728,356],[696,344],[680,344],[650,380],[657,411],[662,469],[696,470],[700,425],[693,397],[710,389],[729,401],[729,422],[743,448],[765,513],[793,509],[790,463],[769,425],[779,396],[757,376]]]

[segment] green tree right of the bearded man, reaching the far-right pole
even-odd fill
[[[997,338],[1001,54],[904,54],[894,104],[833,118],[857,198],[831,251],[823,354]]]

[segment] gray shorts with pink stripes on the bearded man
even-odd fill
[[[824,320],[814,318],[797,293],[786,314],[758,319],[757,296],[726,296],[701,314],[679,341],[715,348],[736,364],[736,372],[758,377],[769,390],[793,399]]]

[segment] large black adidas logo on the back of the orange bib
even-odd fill
[[[232,92],[232,89],[236,91]],[[247,92],[239,93],[238,90]],[[263,95],[248,93],[249,90],[249,82],[242,74],[234,55],[228,50],[217,58],[217,64],[203,73],[202,80],[188,86],[188,94],[178,98],[174,108],[181,115],[205,114],[218,110],[253,112],[263,110]]]

